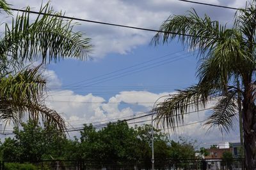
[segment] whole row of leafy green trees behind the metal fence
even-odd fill
[[[70,139],[52,127],[33,122],[14,129],[14,138],[1,143],[2,160],[38,162],[40,160],[143,161],[150,164],[151,125],[129,127],[126,122],[109,123],[103,129],[84,125],[81,137]],[[195,159],[196,141],[168,139],[168,134],[154,129],[154,155],[157,160]]]

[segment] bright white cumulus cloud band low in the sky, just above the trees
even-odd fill
[[[50,71],[54,73],[53,71]],[[56,78],[56,75],[52,75]],[[54,81],[54,80],[51,80]],[[58,80],[58,77],[56,79]],[[154,103],[159,97],[174,94],[175,92],[164,92],[160,94],[148,92],[148,91],[122,91],[109,99],[104,99],[100,96],[94,96],[93,94],[75,94],[72,90],[51,90],[48,92],[46,104],[49,108],[52,108],[65,118],[68,123],[68,128],[83,127],[83,124],[93,123],[94,125],[106,124],[108,122],[115,122],[116,120],[124,120],[132,117],[139,117],[141,115],[149,114],[148,111],[152,110]],[[162,97],[157,102],[162,102],[166,97]],[[207,104],[207,108],[211,108],[214,102]],[[204,121],[211,114],[211,110],[203,110],[199,112],[193,112],[185,116],[184,126],[177,129],[177,134],[172,134],[170,129],[165,129],[165,132],[169,130],[170,137],[176,139],[177,136],[186,136],[188,138],[197,139],[198,141],[204,141],[204,143],[220,143],[222,140],[237,141],[238,127],[230,134],[221,134],[218,129],[211,129],[208,131],[208,127],[204,127]],[[140,118],[129,121],[131,125],[133,123],[143,120],[149,120],[148,122],[138,123],[150,124],[151,117]],[[163,128],[158,126],[159,128]],[[79,132],[73,132],[70,136],[79,136]]]

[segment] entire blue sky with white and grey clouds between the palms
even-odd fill
[[[30,6],[35,11],[46,2],[8,1],[12,8]],[[244,0],[200,2],[235,8],[243,8],[246,3]],[[207,13],[212,20],[232,26],[236,12],[178,0],[52,0],[51,6],[55,11],[65,12],[68,17],[148,29],[159,29],[170,15],[185,15],[191,8],[200,16]],[[177,89],[197,82],[196,52],[189,52],[177,39],[167,45],[154,46],[150,41],[156,32],[88,22],[78,22],[75,30],[92,38],[92,60],[60,60],[48,64],[44,72],[48,94],[45,104],[61,113],[68,128],[148,114],[144,112],[150,111],[159,97],[174,94]],[[209,103],[208,107],[211,105]],[[237,126],[235,131],[221,134],[218,129],[207,131],[207,127],[202,127],[203,123],[196,123],[210,114],[211,111],[207,110],[187,115],[184,124],[189,125],[181,127],[176,135],[171,133],[170,138],[176,140],[177,136],[185,136],[198,140],[202,146],[239,141]],[[134,120],[134,123],[145,119]],[[72,135],[79,136],[79,132]]]

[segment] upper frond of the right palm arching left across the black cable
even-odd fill
[[[152,39],[152,43],[158,44],[161,41],[168,43],[170,39],[177,37],[190,50],[198,49],[200,54],[204,55],[214,48],[221,32],[225,31],[225,26],[219,24],[218,21],[212,21],[207,15],[200,18],[193,10],[189,11],[186,16],[170,16],[163,22],[159,31],[164,32],[158,32]],[[174,34],[168,32],[174,32]]]

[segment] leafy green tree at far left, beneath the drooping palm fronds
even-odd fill
[[[15,127],[15,137],[5,139],[1,145],[3,160],[38,162],[43,159],[65,157],[67,138],[53,126],[42,128],[35,122],[22,123],[22,129]]]

